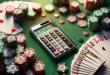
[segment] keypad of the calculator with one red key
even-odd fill
[[[68,38],[57,28],[40,36],[40,40],[55,56],[61,55],[73,47]]]

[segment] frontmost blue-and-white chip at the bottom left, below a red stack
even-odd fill
[[[11,64],[9,66],[6,66],[6,72],[11,75],[20,75],[20,69],[15,64]]]

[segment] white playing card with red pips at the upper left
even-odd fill
[[[13,2],[9,2],[10,4],[13,4]],[[0,31],[8,33],[8,34],[17,34],[23,31],[23,29],[14,22],[13,16],[12,15],[7,15],[5,8],[8,5],[8,2],[4,2],[0,5],[0,10],[2,10],[2,15],[0,17],[0,20],[3,20],[3,23],[0,23]]]

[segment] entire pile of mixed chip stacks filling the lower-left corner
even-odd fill
[[[42,61],[36,61],[35,50],[25,49],[26,36],[24,34],[8,36],[3,32],[0,34],[0,74],[29,75],[31,73],[37,75],[44,73],[45,64]]]

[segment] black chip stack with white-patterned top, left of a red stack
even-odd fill
[[[14,35],[9,35],[6,39],[6,44],[8,48],[16,48],[17,47],[17,40]]]

